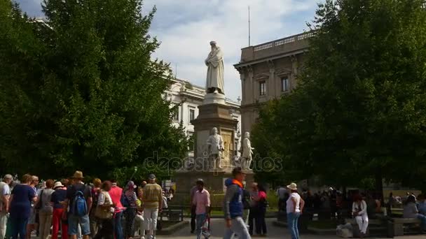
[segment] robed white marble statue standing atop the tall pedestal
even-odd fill
[[[205,59],[207,66],[206,93],[225,94],[224,90],[224,54],[215,41],[210,42],[212,51]]]

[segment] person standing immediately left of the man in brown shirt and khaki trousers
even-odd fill
[[[125,237],[133,238],[135,236],[135,217],[137,214],[137,196],[135,182],[129,181],[124,192],[125,196]]]

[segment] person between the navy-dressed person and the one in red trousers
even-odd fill
[[[40,191],[39,204],[41,205],[39,211],[39,225],[40,225],[40,239],[48,239],[50,234],[50,226],[52,226],[53,207],[50,199],[55,190],[53,180],[46,181],[46,188]]]

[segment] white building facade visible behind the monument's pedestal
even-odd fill
[[[202,104],[202,100],[205,96],[205,88],[197,85],[192,85],[187,80],[179,78],[172,79],[172,84],[169,89],[165,92],[166,99],[172,101],[172,105],[179,105],[179,108],[173,115],[172,124],[175,127],[179,127],[181,124],[184,127],[186,136],[192,137],[194,133],[194,126],[191,124],[191,120],[198,117],[198,106]],[[240,102],[226,99],[226,104],[231,106],[230,115],[233,119],[238,120],[238,126],[235,129],[235,145],[234,149],[240,149],[240,141],[242,137],[241,133],[241,113],[240,113]],[[190,148],[188,152],[188,158],[193,159],[194,149]],[[235,158],[240,156],[238,150],[234,150],[233,155]]]

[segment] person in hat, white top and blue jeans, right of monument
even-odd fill
[[[290,190],[290,196],[287,200],[287,224],[290,229],[291,239],[298,239],[298,217],[301,216],[305,201],[297,192],[297,185],[294,182],[287,185]]]

